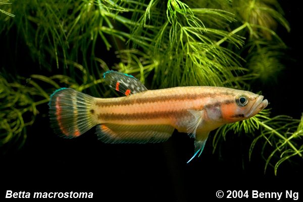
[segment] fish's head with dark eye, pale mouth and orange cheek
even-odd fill
[[[227,123],[249,119],[261,112],[268,105],[263,95],[237,90],[228,105],[222,106],[222,118]]]

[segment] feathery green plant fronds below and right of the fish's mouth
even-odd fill
[[[255,136],[250,145],[249,159],[252,155],[258,141],[263,141],[261,154],[266,160],[264,172],[268,165],[272,165],[270,161],[273,157],[279,159],[274,165],[274,172],[277,175],[279,165],[293,156],[303,157],[303,144],[300,144],[303,136],[303,116],[301,119],[293,119],[289,116],[279,115],[269,118],[269,110],[263,110],[255,117],[250,119],[226,124],[220,127],[213,139],[213,153],[222,138],[225,139],[229,131],[235,134],[254,134],[256,130],[260,130],[261,134]],[[268,154],[269,153],[269,154]]]

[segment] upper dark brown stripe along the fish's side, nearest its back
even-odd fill
[[[207,96],[214,96],[218,95],[218,92],[213,93],[195,93],[195,94],[179,94],[179,95],[160,95],[157,97],[142,97],[142,98],[136,98],[136,99],[123,99],[116,102],[96,102],[96,105],[99,107],[107,107],[107,106],[125,106],[125,105],[135,105],[135,104],[144,104],[144,103],[156,103],[156,102],[164,102],[169,100],[186,100],[186,99],[197,99],[200,97],[207,97]],[[220,92],[220,95],[228,95],[230,93],[226,92]],[[231,94],[233,96],[233,94]],[[130,96],[129,96],[130,97]]]

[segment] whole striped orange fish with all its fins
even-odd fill
[[[268,105],[263,95],[226,87],[148,90],[135,77],[112,70],[104,73],[104,80],[126,96],[97,98],[72,88],[51,95],[49,118],[55,133],[74,138],[96,126],[97,138],[105,143],[156,143],[177,129],[194,138],[189,163],[202,153],[210,131],[249,119]]]

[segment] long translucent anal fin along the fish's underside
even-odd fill
[[[173,133],[170,125],[117,125],[97,126],[98,139],[105,143],[147,143],[166,141]]]

